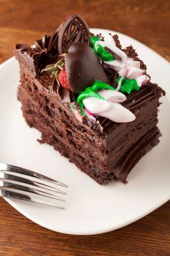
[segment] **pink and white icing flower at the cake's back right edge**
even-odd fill
[[[123,52],[123,50],[120,50],[116,47],[115,40],[112,38],[110,34],[107,34],[106,37],[104,37],[104,41],[96,41],[95,42],[95,48],[97,50],[97,46],[101,45],[103,47],[107,47],[110,50],[112,50],[113,53],[116,53],[117,56],[120,57],[120,60],[113,60],[113,61],[104,61],[104,63],[108,64],[109,67],[114,69],[119,73],[119,75],[122,78],[128,78],[128,79],[136,79],[136,82],[139,87],[142,86],[142,84],[146,83],[147,80],[150,78],[145,74],[146,70],[140,68],[140,62],[134,61],[131,58],[128,58],[128,56]],[[121,86],[121,80],[120,84],[117,86],[117,91],[119,91]]]

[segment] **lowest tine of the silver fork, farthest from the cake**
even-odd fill
[[[41,200],[37,197],[29,196],[21,192],[14,192],[10,191],[9,189],[0,189],[0,196],[5,197],[5,198],[13,198],[13,199],[18,199],[18,200],[23,200],[23,201],[28,201],[31,203],[38,203],[43,206],[52,206],[55,208],[60,208],[63,209],[63,206],[58,206],[55,203],[49,202],[47,200]]]

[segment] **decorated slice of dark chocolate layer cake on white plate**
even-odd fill
[[[80,15],[67,18],[35,46],[15,45],[18,99],[30,127],[99,184],[126,182],[159,142],[159,99],[132,46],[117,35],[91,34]],[[56,161],[57,165],[57,161]]]

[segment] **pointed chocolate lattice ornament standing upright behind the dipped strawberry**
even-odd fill
[[[83,42],[89,45],[90,31],[88,24],[78,14],[67,18],[58,30],[58,53],[68,53],[74,42]]]

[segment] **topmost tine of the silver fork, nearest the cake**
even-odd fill
[[[23,167],[18,167],[18,166],[15,166],[15,165],[0,164],[0,170],[3,170],[4,172],[7,170],[11,173],[20,173],[20,174],[23,174],[23,175],[26,175],[26,176],[39,178],[42,181],[49,181],[50,183],[58,184],[61,187],[68,187],[66,184],[63,184],[60,181],[55,181],[55,179],[53,179],[53,178],[49,178],[49,177],[44,176],[40,173],[36,173],[32,170],[28,170],[28,169],[25,169]]]

